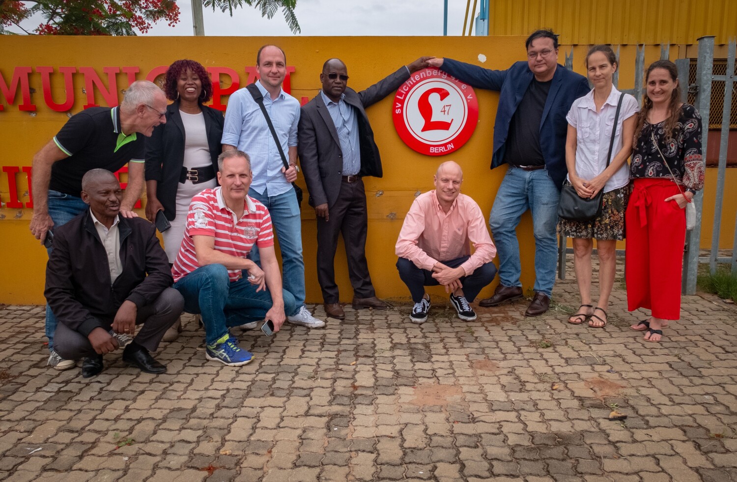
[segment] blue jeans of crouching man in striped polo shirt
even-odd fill
[[[223,265],[206,265],[192,271],[178,282],[175,290],[184,296],[184,311],[201,313],[208,345],[228,333],[231,326],[240,326],[263,320],[271,309],[269,290],[256,292],[256,286],[248,279],[231,282]],[[294,296],[282,290],[284,312],[293,315],[297,311]]]

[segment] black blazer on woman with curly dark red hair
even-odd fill
[[[207,130],[212,167],[217,172],[217,156],[223,149],[223,113],[201,105]],[[146,139],[146,181],[158,181],[156,198],[164,206],[168,220],[176,217],[176,198],[179,178],[184,166],[184,124],[179,114],[179,100],[167,107],[167,123],[153,129]]]

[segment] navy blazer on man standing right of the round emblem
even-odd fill
[[[453,77],[475,88],[488,88],[499,91],[499,108],[494,124],[494,152],[492,169],[504,164],[504,150],[511,116],[517,111],[534,74],[525,61],[515,62],[506,70],[489,70],[470,63],[446,58],[441,67]],[[540,120],[540,148],[545,158],[545,169],[558,189],[563,185],[567,168],[565,166],[565,137],[568,122],[565,119],[573,101],[590,91],[588,80],[581,74],[558,65],[553,75],[553,83],[545,101]]]

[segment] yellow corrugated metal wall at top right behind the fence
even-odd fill
[[[489,35],[528,35],[539,28],[560,42],[716,44],[737,36],[737,0],[490,0]]]

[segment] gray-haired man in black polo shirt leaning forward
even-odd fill
[[[139,80],[132,84],[119,107],[94,107],[71,116],[63,128],[33,156],[33,217],[30,230],[36,239],[46,239],[52,227],[62,226],[88,209],[80,198],[82,177],[92,169],[116,172],[128,165],[120,214],[136,217],[133,204],[144,186],[144,139],[166,121],[167,97],[156,84]],[[49,249],[50,252],[50,249]],[[46,305],[46,337],[49,365],[71,369],[73,360],[63,360],[54,351],[57,321]]]

